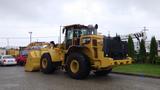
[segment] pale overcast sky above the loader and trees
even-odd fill
[[[126,35],[146,26],[160,39],[160,0],[0,0],[0,46],[58,41],[60,25],[98,24],[99,32]],[[18,37],[21,37],[19,39]]]

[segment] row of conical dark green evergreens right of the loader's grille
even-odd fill
[[[131,36],[128,38],[128,56],[132,57],[136,63],[150,63],[157,64],[160,62],[158,56],[158,44],[156,38],[151,38],[150,51],[147,53],[145,48],[145,41],[141,39],[139,42],[140,49],[135,51],[134,42]]]

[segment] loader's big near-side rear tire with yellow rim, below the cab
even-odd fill
[[[77,68],[76,68],[77,64]],[[90,73],[90,64],[85,56],[80,53],[71,53],[66,62],[67,74],[74,79],[84,79]]]

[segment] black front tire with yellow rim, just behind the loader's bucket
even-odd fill
[[[40,61],[40,69],[41,72],[45,74],[51,74],[56,70],[56,68],[53,66],[51,56],[49,55],[49,53],[45,53],[42,55]]]

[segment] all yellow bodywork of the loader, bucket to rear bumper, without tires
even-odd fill
[[[104,53],[102,51],[103,48],[103,36],[102,35],[88,35],[88,36],[82,36],[80,40],[83,40],[83,38],[91,38],[91,41],[93,39],[97,40],[97,45],[94,46],[93,42],[90,42],[89,44],[83,44],[82,41],[80,41],[81,46],[85,46],[85,48],[79,48],[76,49],[78,52],[83,52],[86,56],[88,56],[90,59],[91,67],[95,70],[99,69],[109,69],[113,66],[117,65],[123,65],[123,64],[131,64],[132,59],[130,57],[127,57],[123,60],[113,60],[110,57],[104,57]],[[73,41],[74,42],[74,41]],[[59,45],[57,48],[45,48],[41,50],[31,50],[29,52],[25,70],[26,71],[37,71],[40,70],[40,59],[41,56],[44,53],[49,53],[51,56],[52,62],[62,62],[62,66],[65,63],[65,54],[68,52],[68,50],[64,50],[62,47],[63,44]],[[70,47],[72,48],[72,47]]]

